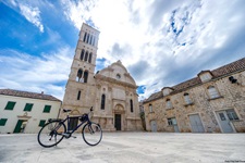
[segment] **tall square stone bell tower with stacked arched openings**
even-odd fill
[[[98,39],[99,32],[83,23],[62,103],[63,109],[72,110],[71,114],[87,112],[95,103]]]

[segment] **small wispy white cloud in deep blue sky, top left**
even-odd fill
[[[44,25],[41,24],[40,10],[37,7],[29,7],[27,4],[20,3],[21,13],[25,18],[33,23],[44,33]]]

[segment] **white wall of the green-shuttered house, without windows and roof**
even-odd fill
[[[4,110],[8,101],[16,102],[13,110]],[[24,111],[26,103],[33,103],[30,112]],[[50,113],[44,113],[45,105],[51,105]],[[4,126],[0,126],[0,134],[13,133],[19,120],[26,113],[28,118],[24,133],[38,133],[40,120],[57,118],[61,101],[49,101],[40,99],[21,98],[0,95],[0,118],[8,118]],[[21,116],[21,117],[20,117]]]

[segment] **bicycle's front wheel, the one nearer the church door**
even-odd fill
[[[102,139],[102,129],[96,123],[88,123],[82,130],[84,141],[89,146],[98,145]]]

